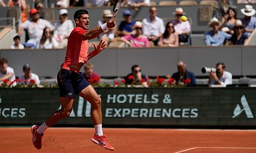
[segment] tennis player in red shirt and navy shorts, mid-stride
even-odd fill
[[[70,115],[77,94],[91,103],[91,118],[95,127],[95,134],[91,141],[105,149],[114,150],[102,131],[101,99],[90,83],[84,79],[80,69],[89,59],[106,48],[106,42],[101,40],[99,45],[92,43],[94,50],[87,53],[89,49],[88,39],[96,38],[108,28],[113,28],[115,22],[111,20],[88,31],[90,20],[87,10],[77,10],[74,14],[74,20],[76,27],[69,35],[65,61],[57,74],[61,109],[53,113],[42,125],[32,126],[32,142],[36,149],[41,149],[44,131]]]

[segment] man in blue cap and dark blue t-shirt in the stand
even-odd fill
[[[121,36],[127,36],[132,34],[132,27],[135,24],[135,21],[132,20],[132,12],[130,10],[125,10],[123,12],[124,21],[122,21],[116,31],[118,37],[116,37],[113,41],[120,40]]]

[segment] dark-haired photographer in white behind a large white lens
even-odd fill
[[[232,74],[225,71],[225,64],[219,62],[216,64],[216,72],[209,73],[209,84],[219,84],[219,85],[231,85],[232,84]]]

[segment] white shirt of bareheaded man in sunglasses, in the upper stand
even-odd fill
[[[142,20],[143,24],[143,35],[158,36],[160,33],[165,32],[164,20],[156,17],[154,22],[151,22],[150,17]]]

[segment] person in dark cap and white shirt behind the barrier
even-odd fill
[[[35,73],[31,73],[31,67],[29,64],[25,64],[23,66],[23,74],[19,77],[19,84],[29,85],[35,84],[36,86],[40,86],[39,76]]]

